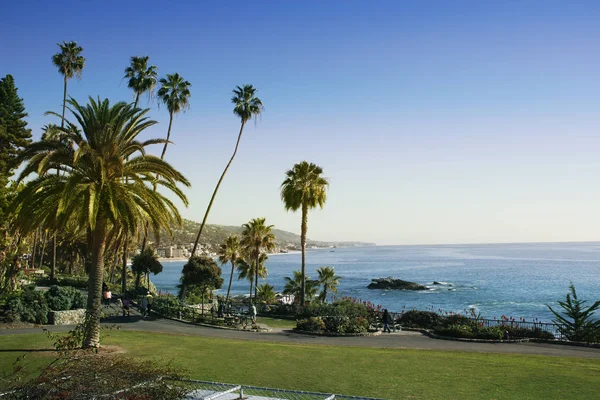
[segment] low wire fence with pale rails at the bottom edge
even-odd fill
[[[371,397],[344,396],[332,393],[305,392],[220,382],[185,380],[190,400],[382,400]]]

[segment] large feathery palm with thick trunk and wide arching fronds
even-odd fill
[[[85,106],[73,99],[68,102],[82,133],[65,120],[67,127],[61,129],[74,147],[45,141],[29,146],[22,156],[28,163],[19,180],[34,173],[38,176],[32,177],[16,196],[13,209],[22,229],[33,231],[40,222],[56,218],[59,226],[74,220],[89,232],[92,262],[83,346],[96,347],[100,341],[100,302],[109,230],[122,227],[133,234],[139,221],[149,220],[158,235],[160,229],[170,231],[172,224],[181,225],[173,202],[155,191],[153,184],[169,189],[187,205],[178,185],[189,186],[189,182],[166,162],[146,154],[147,146],[164,140],[137,140],[145,129],[156,124],[146,117],[149,110],[92,98]],[[46,174],[56,168],[65,173]],[[161,178],[157,180],[158,174]]]

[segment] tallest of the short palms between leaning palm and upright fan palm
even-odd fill
[[[275,235],[273,225],[265,225],[264,218],[254,218],[247,224],[242,225],[241,245],[248,261],[252,264],[255,274],[254,297],[257,294],[258,275],[261,266],[267,260],[267,254],[275,249]],[[265,268],[266,271],[266,268]]]

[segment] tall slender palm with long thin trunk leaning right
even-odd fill
[[[206,225],[206,220],[208,219],[208,214],[210,213],[210,209],[212,208],[213,202],[215,201],[215,197],[217,196],[217,192],[219,191],[219,186],[221,186],[221,182],[223,182],[223,178],[225,178],[225,174],[229,169],[229,166],[233,162],[235,155],[237,154],[237,149],[240,145],[240,140],[242,139],[242,133],[244,132],[244,126],[246,122],[250,119],[254,118],[255,120],[262,114],[264,106],[262,101],[255,96],[256,88],[252,85],[243,85],[238,86],[233,90],[233,97],[231,98],[231,102],[234,104],[233,113],[240,118],[241,126],[240,133],[238,134],[238,140],[235,143],[235,149],[233,150],[233,154],[229,159],[229,162],[225,166],[219,181],[217,182],[217,186],[215,187],[215,191],[213,192],[212,197],[210,198],[210,202],[208,203],[208,207],[206,208],[206,212],[204,213],[204,218],[202,219],[202,224],[200,225],[200,230],[198,231],[198,236],[196,236],[196,241],[194,242],[194,248],[192,249],[192,254],[196,253],[196,248],[198,247],[198,243],[200,242],[200,236],[202,235],[202,230],[204,230],[204,225]]]

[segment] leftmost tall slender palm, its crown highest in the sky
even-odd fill
[[[58,68],[58,72],[63,76],[64,88],[63,88],[63,112],[60,119],[60,127],[65,126],[65,109],[67,108],[67,82],[73,76],[81,79],[81,73],[85,67],[85,57],[81,55],[83,47],[77,45],[77,42],[62,42],[57,43],[60,47],[60,53],[56,53],[52,56],[52,63]],[[60,173],[60,169],[57,169],[57,174]],[[56,231],[52,238],[52,269],[51,279],[54,279],[54,271],[56,270]]]

